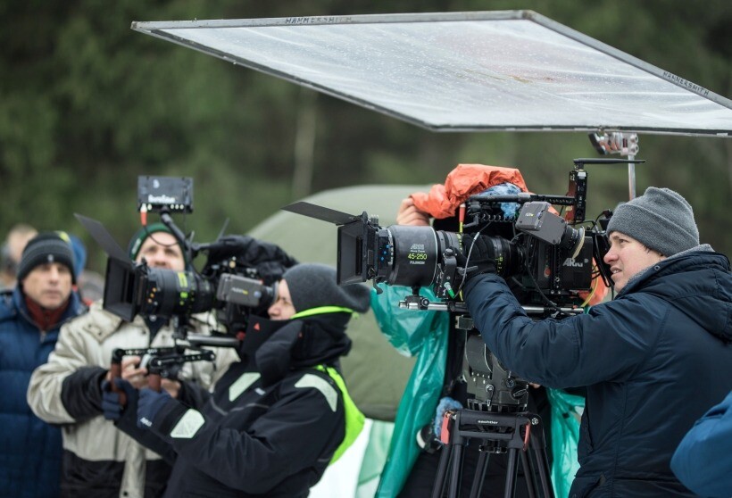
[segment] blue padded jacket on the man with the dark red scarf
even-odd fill
[[[19,288],[0,294],[0,497],[54,498],[61,480],[61,431],[30,411],[30,374],[54,351],[59,328],[83,310],[79,296],[62,320],[42,334]]]

